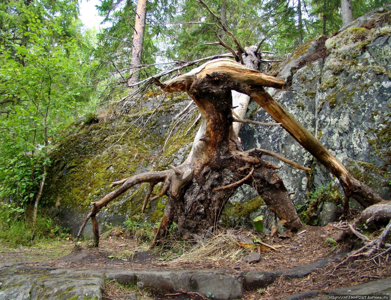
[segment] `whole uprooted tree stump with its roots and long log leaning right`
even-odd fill
[[[155,83],[165,92],[185,91],[197,104],[202,122],[192,150],[181,165],[170,165],[170,169],[165,171],[143,172],[114,182],[112,186],[120,187],[100,201],[91,203],[93,207],[80,228],[78,238],[91,218],[94,245],[98,246],[96,214],[120,194],[143,182],[149,182],[150,187],[142,210],[148,201],[168,196],[163,219],[151,246],[167,234],[172,222],[178,225],[180,234],[185,237],[201,234],[203,230],[215,226],[226,199],[242,184],[251,185],[258,192],[265,204],[282,220],[285,228],[292,231],[300,229],[302,224],[289,193],[275,172],[279,167],[263,160],[261,156],[271,155],[299,169],[310,169],[270,151],[243,151],[232,130],[233,122],[243,121],[233,117],[232,90],[251,96],[301,146],[325,165],[339,179],[346,195],[345,202],[353,197],[368,207],[384,201],[368,186],[353,178],[341,162],[265,91],[264,87],[282,88],[282,80],[251,70],[230,59],[217,59],[166,83],[158,79],[155,79]],[[159,182],[164,182],[163,188],[160,194],[151,198],[153,188]]]

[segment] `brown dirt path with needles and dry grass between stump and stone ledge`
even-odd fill
[[[258,249],[258,251],[246,251],[239,244],[231,243],[230,239],[225,238],[234,235],[235,238],[246,239],[247,237],[248,239],[251,237],[251,233],[245,231],[228,231],[224,238],[217,241],[220,244],[216,242],[209,248],[196,245],[192,250],[187,249],[182,255],[175,253],[178,252],[178,248],[174,248],[174,250],[160,248],[151,251],[147,249],[147,244],[140,243],[135,239],[122,239],[121,236],[106,235],[102,238],[99,248],[89,248],[87,242],[83,242],[75,248],[73,241],[64,241],[50,250],[43,250],[40,247],[22,247],[12,251],[5,249],[0,251],[0,263],[24,262],[25,266],[30,267],[73,268],[79,271],[99,270],[103,273],[118,273],[126,270],[148,272],[162,270],[176,270],[176,272],[181,270],[219,270],[220,272],[223,270],[225,275],[242,277],[243,274],[251,274],[251,272],[253,274],[256,272],[258,272],[257,274],[260,274],[259,272],[278,274],[279,277],[275,278],[274,276],[267,285],[247,288],[244,291],[243,299],[283,299],[304,291],[316,291],[317,295],[324,295],[331,289],[391,277],[391,265],[388,257],[376,263],[356,260],[333,271],[335,262],[331,262],[331,260],[336,255],[341,256],[347,251],[346,245],[337,245],[330,239],[335,235],[334,228],[332,226],[325,228],[306,226],[304,230],[292,236],[262,237],[262,241],[272,245],[274,250],[265,247]],[[173,247],[174,244],[172,242],[171,246]],[[178,242],[175,245],[185,248],[185,242]],[[260,253],[258,262],[250,264],[243,260],[243,257],[246,257],[251,251]],[[307,273],[303,271],[303,268],[300,269],[300,266],[316,264],[320,260],[325,261],[324,259],[329,259],[328,263],[319,265],[319,269],[314,267]],[[283,275],[288,274],[290,270],[292,272],[301,270],[301,275],[293,276],[296,278]],[[121,292],[121,289],[122,286],[118,285],[115,280],[106,282],[103,292],[104,299],[120,299],[123,293],[129,292],[129,290]],[[164,299],[179,296],[164,296],[164,294],[162,296],[155,292],[135,291],[135,293],[141,293],[142,299]],[[167,293],[165,292],[165,294]],[[186,295],[197,297],[195,294]]]

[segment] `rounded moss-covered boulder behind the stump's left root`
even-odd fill
[[[97,122],[99,116],[88,116],[70,124],[50,154],[42,205],[56,209],[63,225],[75,234],[90,203],[113,190],[111,182],[181,163],[191,149],[197,113],[190,111],[180,124],[172,120],[188,101],[183,95],[169,95],[157,109],[153,101],[144,101],[141,108],[115,120]],[[143,122],[138,121],[140,116]],[[158,185],[155,188],[158,191]],[[142,184],[118,197],[99,214],[100,223],[121,225],[140,215],[146,191]],[[151,202],[143,217],[160,222],[164,208],[163,197]],[[90,235],[91,228],[85,233]]]

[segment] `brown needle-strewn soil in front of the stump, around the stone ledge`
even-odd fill
[[[236,239],[240,237],[254,237],[253,232],[245,230],[226,230],[228,235]],[[173,259],[173,251],[169,248],[149,250],[146,243],[136,239],[126,239],[121,236],[104,235],[101,238],[99,248],[90,248],[87,241],[75,247],[74,241],[64,241],[50,251],[42,251],[39,247],[19,248],[13,251],[0,251],[0,262],[26,262],[34,266],[40,264],[56,268],[78,269],[226,269],[231,272],[244,270],[273,271],[277,269],[289,269],[294,266],[308,264],[319,259],[339,257],[352,250],[352,245],[357,248],[359,242],[348,241],[345,244],[335,243],[331,237],[339,233],[331,224],[325,227],[305,226],[297,234],[291,237],[261,237],[266,244],[262,247],[260,261],[248,264],[242,257],[250,253],[251,249],[244,249],[239,244],[233,244],[231,253],[235,257],[229,257],[227,249],[218,250],[224,253],[213,255],[200,255],[191,259]],[[251,235],[253,234],[253,235]],[[182,243],[182,244],[181,244]],[[169,243],[172,247],[174,243]],[[184,245],[183,242],[177,245]],[[4,248],[3,248],[4,249]],[[210,251],[209,251],[210,252]],[[213,252],[213,251],[212,251]],[[55,255],[56,257],[54,257]],[[170,256],[171,255],[171,256]],[[231,255],[232,256],[232,255]],[[224,257],[224,258],[222,258]],[[168,258],[168,259],[167,259]],[[340,260],[339,260],[340,261]],[[341,268],[334,270],[337,262],[331,262],[325,268],[301,279],[280,278],[267,289],[259,289],[254,292],[246,292],[243,299],[282,299],[302,291],[316,290],[326,291],[340,287],[353,286],[356,284],[376,280],[378,278],[391,277],[391,264],[388,254],[373,260],[353,260]],[[114,293],[118,296],[118,293]],[[106,292],[104,299],[120,299],[110,296],[113,293]],[[322,295],[319,294],[319,295]],[[155,296],[149,294],[150,299],[169,299],[170,297]],[[197,295],[194,295],[197,298]],[[144,299],[144,298],[143,298]],[[145,298],[147,299],[147,298]]]

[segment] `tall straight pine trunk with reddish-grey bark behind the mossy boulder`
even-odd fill
[[[146,14],[147,0],[138,0],[136,8],[135,32],[133,33],[132,57],[130,60],[131,77],[127,81],[128,85],[135,84],[140,79],[140,72],[137,69],[141,65]]]

